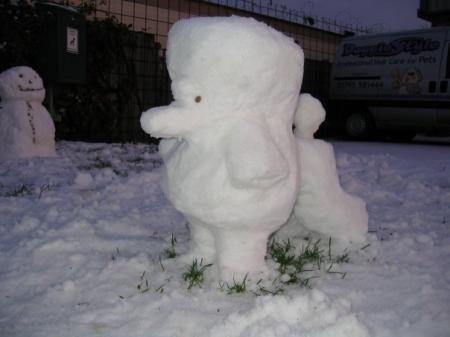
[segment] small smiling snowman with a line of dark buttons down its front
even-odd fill
[[[0,160],[55,156],[55,126],[42,79],[29,67],[0,74]]]

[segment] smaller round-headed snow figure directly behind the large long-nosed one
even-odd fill
[[[309,94],[300,95],[295,114],[300,171],[300,192],[294,216],[301,226],[343,241],[365,239],[368,215],[365,202],[346,193],[336,171],[333,147],[314,139],[325,110]]]

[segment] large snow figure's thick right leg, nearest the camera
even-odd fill
[[[219,230],[216,244],[221,279],[239,282],[247,274],[268,274],[264,257],[269,235],[254,230]]]

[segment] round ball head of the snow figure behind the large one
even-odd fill
[[[325,109],[317,98],[301,94],[294,116],[295,135],[300,138],[314,138],[314,133],[325,120]]]

